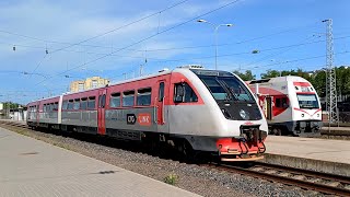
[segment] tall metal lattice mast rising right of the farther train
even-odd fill
[[[337,107],[337,85],[336,85],[336,69],[334,67],[334,40],[332,40],[332,20],[324,20],[322,21],[327,23],[327,58],[326,58],[326,67],[327,67],[327,100],[326,106],[328,109],[328,123],[337,123],[338,121],[338,107]]]

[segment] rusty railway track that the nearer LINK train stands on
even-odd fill
[[[0,124],[27,129],[30,128],[23,123],[0,120]],[[350,177],[346,176],[260,162],[254,162],[249,166],[232,165],[228,163],[209,163],[200,165],[290,186],[296,186],[304,189],[316,190],[324,194],[350,196]]]

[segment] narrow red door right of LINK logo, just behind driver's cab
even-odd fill
[[[159,132],[165,132],[166,127],[166,108],[165,108],[165,99],[167,96],[167,91],[165,91],[167,89],[166,86],[166,80],[160,80],[158,82],[158,86],[159,86],[159,94],[156,96],[156,125],[158,125],[158,131]]]

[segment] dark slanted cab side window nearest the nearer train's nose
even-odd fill
[[[198,97],[195,91],[187,83],[176,83],[174,102],[175,103],[198,102]]]

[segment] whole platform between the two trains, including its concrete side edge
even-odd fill
[[[350,141],[268,136],[266,162],[350,176]]]

